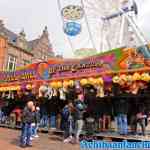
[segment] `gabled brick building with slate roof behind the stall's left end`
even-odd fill
[[[47,27],[39,38],[27,41],[24,31],[16,34],[0,20],[0,70],[13,71],[19,66],[47,61],[52,57],[54,52]]]

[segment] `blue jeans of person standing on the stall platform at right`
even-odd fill
[[[117,127],[119,134],[128,134],[128,123],[127,123],[127,115],[119,114],[117,116]]]

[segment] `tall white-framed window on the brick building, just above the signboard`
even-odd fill
[[[13,55],[8,55],[7,70],[14,71],[16,69],[17,58]]]

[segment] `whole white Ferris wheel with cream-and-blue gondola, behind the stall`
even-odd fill
[[[138,11],[134,0],[78,0],[78,4],[63,7],[60,2],[64,33],[74,54],[131,47],[139,40],[146,41],[136,24]],[[83,52],[76,45],[84,48]],[[85,47],[89,48],[88,53]]]

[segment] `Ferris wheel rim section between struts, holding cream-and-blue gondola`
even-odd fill
[[[96,49],[93,35],[89,27],[86,14],[82,2],[77,5],[69,4],[63,5],[61,0],[57,0],[61,19],[63,23],[63,31],[68,39],[68,43],[72,49],[73,54],[77,57],[76,50],[87,47]],[[89,55],[89,52],[84,50],[84,53]],[[96,54],[94,51],[93,54]]]

